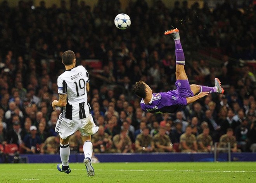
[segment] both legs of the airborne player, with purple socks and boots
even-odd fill
[[[183,83],[188,85],[188,77],[185,72],[185,56],[183,53],[182,45],[180,42],[180,32],[178,29],[171,29],[170,31],[165,31],[164,35],[171,35],[173,40],[175,41],[175,56],[176,56],[176,83]],[[185,80],[185,81],[184,81]],[[181,81],[181,82],[179,82]],[[201,85],[190,85],[192,93],[195,95],[196,93],[200,93],[202,91],[208,91],[209,93],[223,93],[224,90],[220,86],[220,80],[218,78],[214,79],[215,86],[201,86]],[[188,96],[186,96],[188,97]]]

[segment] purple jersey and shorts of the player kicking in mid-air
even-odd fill
[[[188,80],[177,80],[177,89],[168,92],[153,93],[149,104],[144,103],[144,98],[140,101],[140,107],[145,112],[150,113],[174,113],[187,105],[187,97],[194,94],[191,91]]]

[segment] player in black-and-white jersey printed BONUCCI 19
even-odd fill
[[[59,100],[52,102],[56,106],[63,107],[62,113],[57,121],[55,131],[60,135],[60,156],[62,164],[57,165],[61,172],[69,174],[69,137],[77,130],[80,131],[83,140],[84,163],[88,176],[94,176],[94,169],[91,164],[92,142],[91,135],[99,129],[93,122],[90,114],[90,106],[87,102],[87,92],[90,89],[89,74],[85,67],[76,67],[76,57],[73,51],[66,51],[62,54],[62,63],[66,71],[57,80]]]

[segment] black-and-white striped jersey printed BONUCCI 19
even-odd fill
[[[86,93],[88,82],[89,74],[83,66],[66,70],[58,77],[58,93],[67,94],[67,105],[63,107],[62,118],[76,120],[89,116]]]

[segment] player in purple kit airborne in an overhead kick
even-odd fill
[[[165,31],[164,35],[171,35],[175,41],[176,90],[152,93],[151,88],[145,81],[136,82],[133,91],[136,95],[142,98],[140,102],[142,110],[150,113],[174,113],[209,93],[224,92],[223,88],[220,86],[220,80],[218,78],[214,79],[214,87],[195,84],[190,85],[184,69],[185,57],[180,43],[179,30],[172,29],[170,31]]]

